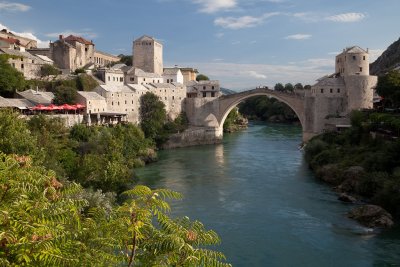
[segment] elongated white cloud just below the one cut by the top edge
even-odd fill
[[[214,20],[214,24],[222,28],[237,30],[251,28],[262,24],[266,19],[280,15],[279,12],[265,13],[260,17],[242,16],[242,17],[220,17]]]

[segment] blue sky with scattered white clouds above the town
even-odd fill
[[[115,55],[153,36],[165,67],[193,67],[240,91],[314,84],[353,45],[373,61],[399,39],[399,11],[400,0],[0,0],[0,29],[41,47],[79,35]]]

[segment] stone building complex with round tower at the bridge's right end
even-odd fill
[[[352,110],[373,107],[377,77],[369,75],[368,50],[349,47],[336,56],[335,73],[322,77],[305,95],[305,132],[349,124]]]

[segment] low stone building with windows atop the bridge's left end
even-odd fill
[[[186,84],[188,98],[220,97],[221,88],[218,81],[190,81]]]

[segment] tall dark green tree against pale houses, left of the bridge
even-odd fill
[[[147,138],[155,140],[163,134],[167,113],[164,103],[158,96],[147,92],[140,98],[140,117],[140,127]]]

